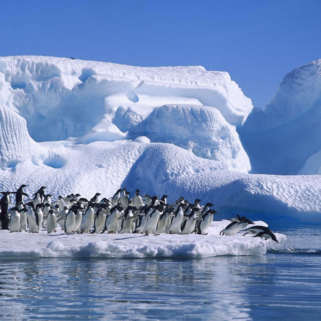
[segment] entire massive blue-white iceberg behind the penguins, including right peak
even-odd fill
[[[0,190],[138,188],[212,202],[216,221],[320,224],[320,64],[287,74],[259,109],[201,66],[0,57]]]

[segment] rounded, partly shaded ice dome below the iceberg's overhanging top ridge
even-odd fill
[[[155,108],[131,132],[152,142],[173,143],[196,156],[231,161],[240,170],[250,169],[235,127],[213,107],[165,105]]]

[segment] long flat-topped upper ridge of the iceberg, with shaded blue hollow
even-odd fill
[[[36,141],[81,136],[106,113],[112,120],[119,106],[133,107],[143,118],[164,104],[213,106],[232,125],[241,124],[252,108],[228,73],[200,66],[133,67],[56,57],[0,57],[0,90],[0,103],[26,119]],[[39,117],[41,122],[36,122]]]

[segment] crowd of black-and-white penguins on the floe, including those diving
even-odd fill
[[[0,222],[3,230],[10,232],[27,231],[39,233],[40,229],[47,229],[48,233],[56,232],[58,225],[66,234],[69,233],[143,233],[159,235],[190,234],[206,235],[206,231],[217,212],[210,209],[214,204],[200,205],[200,199],[190,204],[180,197],[175,204],[167,204],[168,195],[145,195],[142,197],[137,189],[135,195],[129,199],[126,188],[118,189],[109,199],[99,201],[100,193],[96,193],[90,200],[81,198],[80,194],[61,195],[55,201],[52,194],[45,194],[47,187],[40,187],[28,197],[21,185],[16,192],[1,192]],[[15,194],[16,204],[9,208],[10,194]],[[277,239],[273,232],[264,226],[247,228],[254,224],[246,217],[231,218],[231,223],[221,231],[220,235],[235,235],[238,231],[246,231],[243,235],[253,234],[254,237]]]

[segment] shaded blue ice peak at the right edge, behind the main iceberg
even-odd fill
[[[320,166],[300,170],[321,150],[321,59],[287,74],[265,106],[253,108],[238,133],[246,146],[252,172],[317,174]]]

